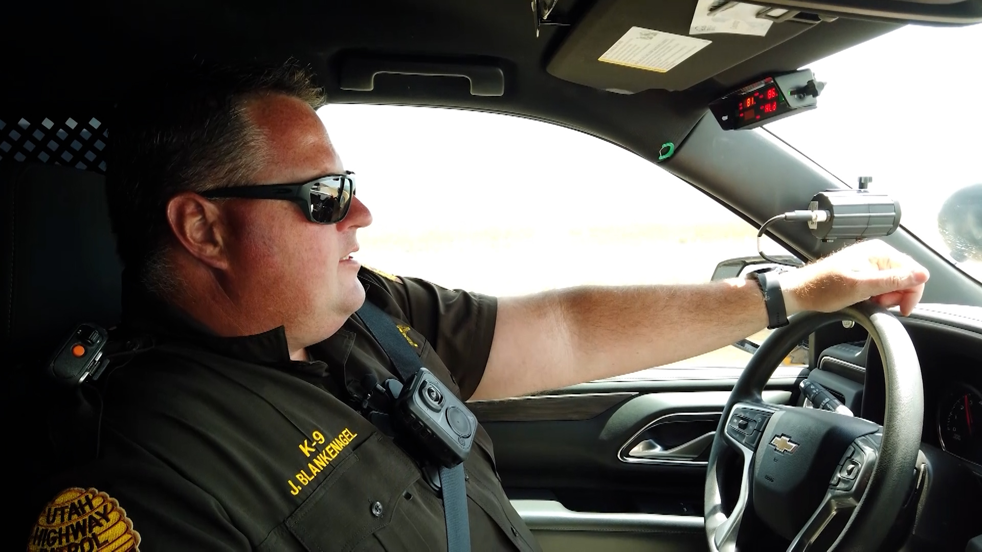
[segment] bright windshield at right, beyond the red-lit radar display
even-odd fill
[[[767,125],[849,186],[900,200],[900,224],[982,281],[982,25],[905,27],[807,67],[818,108]]]

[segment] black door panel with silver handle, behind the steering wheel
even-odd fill
[[[740,371],[652,370],[543,394],[542,403],[479,402],[474,412],[509,497],[547,552],[701,551],[704,455]],[[764,400],[792,404],[805,376],[779,367]]]

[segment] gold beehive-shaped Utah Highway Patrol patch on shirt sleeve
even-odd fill
[[[115,498],[94,488],[58,493],[37,517],[28,552],[138,552],[139,533]]]

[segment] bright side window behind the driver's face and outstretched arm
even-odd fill
[[[708,282],[720,261],[757,252],[755,228],[600,138],[453,109],[332,104],[319,115],[374,218],[355,257],[386,272],[502,297]],[[764,251],[787,254],[768,240]],[[747,359],[727,347],[680,365]]]

